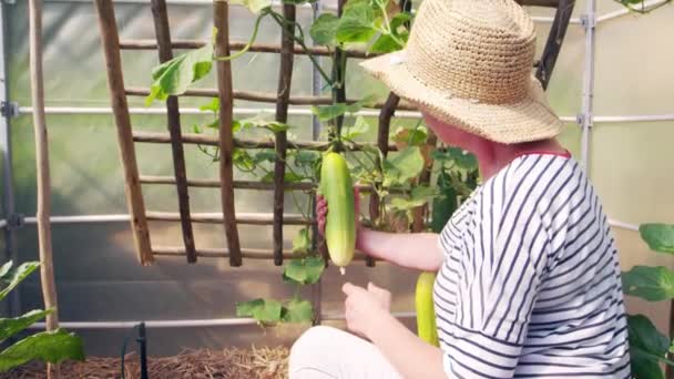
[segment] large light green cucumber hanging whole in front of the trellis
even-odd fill
[[[344,267],[354,259],[356,249],[356,212],[351,175],[346,160],[338,153],[329,152],[323,156],[320,193],[328,203],[325,223],[328,253],[344,274]]]

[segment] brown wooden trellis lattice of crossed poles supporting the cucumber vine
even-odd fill
[[[338,13],[346,0],[338,1]],[[552,23],[552,29],[545,48],[540,60],[535,63],[537,76],[548,86],[550,75],[559,55],[562,41],[564,39],[574,0],[520,0],[527,6],[555,8],[556,12]],[[284,183],[285,156],[288,148],[304,148],[323,151],[328,147],[327,142],[320,141],[299,141],[289,147],[285,132],[276,133],[276,141],[252,141],[235,139],[232,131],[234,100],[246,100],[261,103],[276,104],[276,121],[286,122],[289,105],[325,105],[334,102],[354,103],[356,100],[347,98],[345,86],[333,91],[331,96],[294,96],[290,95],[293,64],[296,54],[306,54],[306,51],[296,45],[292,35],[293,27],[282,30],[280,44],[253,44],[252,52],[279,53],[280,65],[278,75],[278,90],[276,93],[257,93],[236,91],[233,88],[232,66],[229,61],[217,61],[215,63],[217,72],[217,89],[192,89],[186,91],[184,96],[218,98],[221,102],[219,129],[217,136],[208,136],[193,133],[183,133],[181,127],[181,114],[178,99],[168,96],[166,100],[167,132],[150,133],[133,131],[129,114],[126,96],[146,96],[150,89],[127,88],[124,83],[124,75],[121,62],[121,49],[126,50],[157,50],[159,59],[165,62],[173,58],[173,49],[197,49],[205,44],[205,41],[196,40],[172,40],[171,28],[166,0],[152,0],[152,16],[156,40],[126,40],[120,41],[118,25],[114,14],[112,0],[96,0],[99,14],[99,25],[103,41],[105,64],[108,66],[108,83],[111,95],[112,109],[118,130],[118,142],[120,155],[124,167],[125,194],[129,212],[132,216],[131,225],[135,249],[140,262],[143,265],[151,264],[155,256],[185,256],[188,263],[194,263],[198,257],[226,257],[231,266],[241,266],[243,258],[246,259],[274,259],[276,265],[282,265],[286,258],[293,258],[290,252],[283,249],[283,226],[284,225],[315,225],[314,219],[306,219],[300,216],[284,214],[284,194],[286,191],[307,191],[312,190],[309,183]],[[411,3],[404,1],[404,9],[409,9]],[[288,20],[295,20],[296,6],[283,4],[283,14]],[[215,37],[215,54],[218,57],[229,55],[231,51],[241,50],[246,43],[229,40],[228,30],[228,3],[226,1],[214,1],[213,22],[217,30]],[[347,58],[365,58],[366,54],[356,51],[329,51],[326,48],[313,47],[308,49],[315,55],[345,54]],[[371,55],[369,55],[371,57]],[[333,72],[334,76],[339,78],[341,72]],[[378,137],[376,146],[386,155],[389,151],[395,151],[396,146],[389,143],[389,129],[391,119],[396,110],[413,110],[411,104],[400,101],[395,94],[389,94],[388,99],[380,104],[375,104],[374,109],[379,109]],[[340,123],[337,120],[336,123]],[[436,143],[436,137],[430,134],[430,144]],[[135,143],[157,143],[170,144],[173,154],[174,176],[150,176],[141,175],[137,168],[135,156]],[[200,144],[219,147],[219,178],[217,180],[191,180],[185,171],[184,144]],[[244,148],[274,148],[279,158],[274,164],[274,182],[263,183],[254,181],[235,181],[233,175],[232,154],[235,147]],[[428,183],[429,173],[422,173],[420,181]],[[164,184],[175,185],[177,188],[177,213],[152,212],[145,208],[142,184]],[[219,188],[222,213],[198,214],[190,209],[190,188],[207,187]],[[274,193],[274,212],[272,214],[243,214],[235,212],[234,188],[245,188],[254,191],[270,191]],[[369,188],[361,188],[367,192]],[[370,194],[370,216],[375,218],[378,212],[377,195]],[[421,215],[415,217],[413,229],[420,231]],[[153,246],[151,244],[147,221],[180,222],[182,227],[182,246]],[[227,238],[227,247],[205,248],[196,247],[193,223],[217,223],[224,226]],[[243,248],[238,237],[238,224],[249,225],[273,225],[273,247],[272,249],[251,249]],[[325,253],[325,252],[324,252]],[[366,259],[357,255],[356,259]],[[367,259],[368,265],[374,262]]]

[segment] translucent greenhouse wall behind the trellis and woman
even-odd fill
[[[171,3],[171,1],[168,1]],[[324,6],[329,6],[325,3]],[[35,214],[35,164],[28,71],[28,12],[24,1],[3,2],[2,24],[6,31],[7,76],[9,100],[18,102],[21,115],[11,120],[12,183],[17,213]],[[598,2],[599,14],[621,9],[609,0]],[[153,39],[151,10],[141,1],[115,4],[121,38]],[[576,4],[575,20],[584,11]],[[532,9],[539,17],[543,38],[551,11]],[[312,10],[298,11],[298,20],[310,23]],[[211,33],[212,13],[207,2],[170,6],[173,39],[206,39]],[[664,7],[652,14],[626,16],[599,24],[596,29],[596,63],[594,115],[624,116],[674,113],[674,7]],[[246,40],[254,19],[247,10],[233,8],[232,40]],[[102,48],[95,10],[89,1],[45,1],[44,6],[44,78],[52,176],[53,215],[115,215],[127,212],[123,192],[123,175],[116,148],[112,114],[93,114],[86,109],[108,107]],[[278,28],[263,23],[259,42],[278,43]],[[561,140],[581,158],[581,129],[575,117],[581,112],[585,32],[580,22],[570,25],[549,89],[553,107],[569,121]],[[149,86],[150,72],[156,65],[156,51],[125,51],[122,54],[125,83]],[[326,62],[327,65],[327,62]],[[347,92],[350,96],[366,93],[386,94],[385,88],[367,78],[350,63]],[[233,62],[234,86],[239,90],[275,92],[278,74],[276,54],[248,53]],[[312,93],[312,66],[305,57],[296,59],[294,94]],[[211,75],[200,85],[213,86]],[[194,109],[205,100],[181,99],[181,106]],[[235,102],[237,109],[259,107],[259,104]],[[143,99],[130,98],[132,109],[144,109]],[[155,105],[161,106],[161,105]],[[75,107],[75,110],[65,110]],[[302,107],[294,107],[299,110]],[[57,111],[60,110],[60,111]],[[59,113],[60,112],[60,113]],[[142,111],[141,111],[142,112]],[[205,115],[183,116],[183,127],[207,121]],[[164,115],[137,114],[132,111],[136,130],[165,129]],[[398,125],[416,120],[397,119]],[[312,117],[293,115],[288,122],[297,137],[312,137]],[[374,133],[370,136],[374,139]],[[604,209],[610,217],[626,224],[674,222],[674,121],[666,122],[595,122],[589,151],[589,170],[598,187]],[[140,172],[147,175],[172,175],[171,150],[167,146],[136,145]],[[217,165],[195,146],[185,146],[188,176],[217,177]],[[0,154],[0,158],[2,154]],[[3,165],[0,164],[0,170]],[[238,174],[241,175],[241,174]],[[4,178],[3,173],[0,177]],[[144,187],[147,207],[153,211],[177,211],[175,188]],[[239,212],[269,212],[270,192],[236,192]],[[305,202],[306,198],[300,198]],[[219,194],[212,188],[191,188],[194,212],[219,208]],[[296,212],[294,202],[286,201],[287,212]],[[4,208],[0,219],[7,218]],[[180,224],[151,223],[153,243],[177,245]],[[225,246],[222,226],[195,225],[197,246]],[[184,258],[159,258],[156,264],[142,267],[133,249],[129,223],[54,224],[53,246],[60,318],[64,321],[115,320],[181,320],[234,317],[234,304],[259,296],[288,297],[289,287],[280,280],[282,268],[270,262],[247,260],[241,268],[231,268],[225,259],[200,259],[187,265]],[[293,227],[285,227],[290,246]],[[614,233],[624,269],[636,264],[674,267],[672,260],[649,252],[639,234],[615,227]],[[20,260],[38,258],[34,225],[14,233],[14,253]],[[272,246],[272,231],[264,226],[242,226],[242,245],[252,248]],[[4,249],[4,231],[0,248]],[[413,309],[416,273],[390,265],[376,268],[365,265],[349,267],[346,277],[330,268],[324,277],[320,294],[324,314],[341,310],[344,280],[365,284],[372,280],[395,294],[394,310]],[[259,278],[265,278],[261,280]],[[307,293],[307,296],[312,294]],[[21,310],[41,307],[37,276],[22,285]],[[645,304],[629,299],[630,313],[643,313],[666,331],[668,304]],[[413,322],[408,319],[409,322]],[[413,325],[413,324],[410,324]],[[80,330],[91,355],[118,355],[129,330]],[[262,329],[257,326],[171,328],[150,330],[150,351],[171,355],[183,348],[289,344],[296,327]]]

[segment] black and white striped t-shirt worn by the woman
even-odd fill
[[[439,244],[448,377],[630,377],[617,252],[576,161],[517,157],[460,206]]]

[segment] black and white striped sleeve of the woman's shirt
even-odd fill
[[[443,357],[451,378],[512,378],[550,250],[538,184],[500,180],[477,199],[461,246],[457,314]]]

